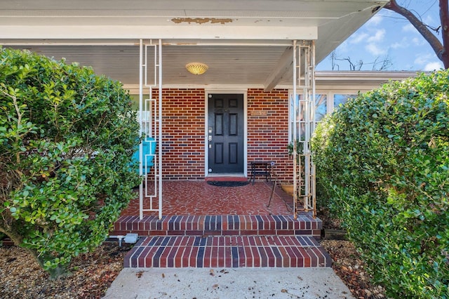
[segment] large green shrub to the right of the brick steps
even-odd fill
[[[360,94],[311,140],[330,208],[394,298],[449,298],[448,78]]]

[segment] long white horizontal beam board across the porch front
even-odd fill
[[[317,27],[260,26],[0,26],[0,39],[304,39]]]

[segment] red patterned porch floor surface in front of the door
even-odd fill
[[[241,187],[217,187],[204,180],[163,181],[163,215],[292,215],[293,199],[272,182],[255,182]],[[148,202],[144,205],[149,208]],[[121,215],[139,215],[139,199],[130,202]],[[144,215],[157,215],[146,212]]]

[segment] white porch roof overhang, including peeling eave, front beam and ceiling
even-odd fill
[[[316,62],[386,0],[15,0],[0,10],[0,44],[91,65],[138,84],[139,39],[163,39],[165,86],[290,86],[293,39],[316,40]],[[286,56],[288,57],[286,59]],[[204,62],[194,76],[188,62]]]

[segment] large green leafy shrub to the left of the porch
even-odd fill
[[[130,97],[91,68],[0,48],[0,103],[0,232],[56,277],[140,182]]]

